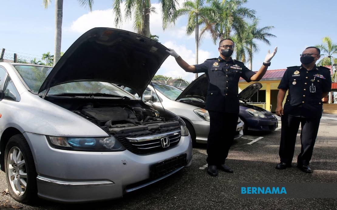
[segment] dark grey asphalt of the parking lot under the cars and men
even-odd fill
[[[337,209],[337,198],[238,198],[240,183],[337,182],[337,115],[324,115],[321,119],[310,163],[314,170],[311,174],[295,167],[296,156],[300,153],[299,134],[293,167],[275,169],[279,162],[280,133],[277,129],[237,139],[226,161],[234,170],[233,174],[219,171],[217,177],[209,176],[206,145],[200,144],[193,149],[191,167],[118,200],[71,205],[41,200],[36,206],[28,206],[0,193],[0,209]],[[0,192],[6,188],[5,173],[1,172]]]

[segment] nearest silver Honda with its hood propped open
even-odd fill
[[[94,28],[54,68],[0,62],[0,165],[9,194],[88,202],[123,194],[191,165],[184,122],[111,83],[143,93],[166,48]]]

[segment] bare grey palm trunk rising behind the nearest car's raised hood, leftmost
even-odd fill
[[[63,0],[55,0],[55,46],[54,66],[61,57]]]

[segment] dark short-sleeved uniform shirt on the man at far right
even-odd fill
[[[316,86],[314,93],[310,92],[312,84]],[[314,66],[309,71],[303,66],[288,67],[278,88],[289,90],[284,104],[284,115],[305,118],[321,117],[322,93],[331,91],[330,70],[323,66]]]

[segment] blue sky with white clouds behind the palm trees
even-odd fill
[[[186,18],[182,17],[176,26],[163,32],[159,4],[152,1],[152,5],[158,12],[150,17],[152,34],[159,35],[162,44],[174,48],[189,64],[194,64],[194,36],[187,37],[184,34]],[[336,8],[337,1],[251,0],[245,6],[256,10],[256,15],[261,19],[260,27],[274,26],[271,33],[277,36],[270,39],[271,46],[258,42],[260,51],[254,54],[253,59],[255,71],[261,66],[268,49],[273,50],[275,46],[278,46],[278,52],[269,70],[299,65],[299,54],[304,48],[320,44],[325,36],[337,42],[337,28],[334,27],[336,14],[334,9],[326,9]],[[93,12],[90,13],[80,7],[77,1],[65,0],[61,51],[66,51],[81,34],[93,27],[114,27],[111,8],[111,0],[96,0]],[[1,2],[0,10],[0,48],[34,55],[54,52],[54,1],[45,10],[42,0],[7,0]],[[132,21],[125,22],[122,29],[132,31]],[[199,63],[207,58],[218,57],[217,46],[210,38],[205,38],[199,49]],[[158,74],[182,76],[188,81],[194,78],[193,74],[180,69],[172,57],[164,62]]]

